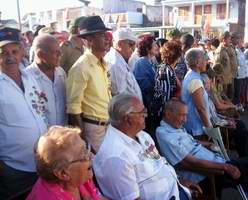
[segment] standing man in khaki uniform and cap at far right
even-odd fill
[[[229,49],[231,42],[231,35],[228,31],[222,33],[220,37],[220,45],[215,52],[215,64],[221,64],[223,68],[223,89],[225,94],[232,99],[233,98],[233,78],[236,71],[236,65],[234,66],[234,55]],[[237,58],[236,58],[237,59]]]

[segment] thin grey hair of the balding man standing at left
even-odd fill
[[[33,44],[32,44],[32,50],[34,51],[35,55],[37,55],[37,52],[39,50],[48,52],[49,51],[49,44],[53,42],[58,42],[57,39],[50,35],[50,34],[42,34],[35,37]]]

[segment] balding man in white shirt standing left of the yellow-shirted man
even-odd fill
[[[33,42],[34,62],[27,72],[37,80],[47,94],[47,118],[49,126],[65,125],[65,78],[59,67],[61,50],[56,38],[49,34],[37,36]]]

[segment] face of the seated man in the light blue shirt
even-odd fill
[[[172,127],[179,129],[187,119],[188,109],[185,105],[179,105],[175,110],[174,112],[167,111],[166,119]]]

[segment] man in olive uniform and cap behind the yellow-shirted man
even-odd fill
[[[68,73],[72,65],[84,53],[84,43],[82,38],[78,37],[78,26],[80,21],[85,17],[78,17],[70,23],[70,37],[69,40],[61,44],[62,57],[60,66]]]

